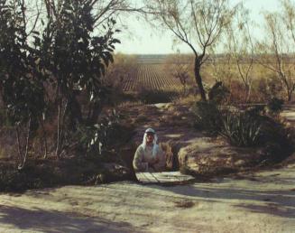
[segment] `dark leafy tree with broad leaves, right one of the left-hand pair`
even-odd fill
[[[51,72],[58,107],[56,155],[59,157],[67,127],[74,130],[77,123],[88,126],[97,123],[107,91],[102,76],[106,66],[113,61],[112,52],[115,43],[119,42],[113,37],[119,32],[113,32],[113,19],[104,26],[104,35],[95,34],[93,10],[90,0],[65,0],[60,5],[59,15],[51,17],[52,14],[48,14],[50,20],[43,33],[42,62]],[[88,98],[86,116],[78,103],[77,92],[83,92]]]

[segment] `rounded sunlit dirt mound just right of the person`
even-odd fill
[[[218,138],[198,137],[180,149],[178,154],[183,172],[214,176],[242,172],[265,161],[261,148],[241,148]]]

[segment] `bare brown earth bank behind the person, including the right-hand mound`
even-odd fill
[[[284,116],[290,116],[288,111],[290,109],[285,110]],[[221,137],[210,137],[197,131],[193,126],[194,116],[188,106],[134,106],[124,108],[123,112],[124,115],[130,116],[129,123],[134,123],[136,128],[134,148],[142,143],[144,130],[147,127],[154,128],[160,144],[164,144],[163,147],[170,148],[172,152],[167,154],[167,161],[176,157],[177,168],[181,172],[197,176],[220,176],[277,165],[277,161],[272,161],[272,158],[264,153],[263,147],[234,147]]]

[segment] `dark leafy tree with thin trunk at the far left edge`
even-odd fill
[[[27,42],[23,1],[0,1],[0,91],[18,143],[22,169],[26,161],[32,130],[38,127],[43,109],[43,87],[38,70],[37,44]],[[26,128],[25,150],[21,145]]]

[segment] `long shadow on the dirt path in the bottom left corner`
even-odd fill
[[[10,229],[41,231],[46,233],[78,232],[140,232],[126,222],[115,222],[101,218],[77,216],[57,210],[26,210],[10,206],[0,206],[0,224]],[[25,216],[25,220],[23,217]],[[62,223],[60,225],[60,223]],[[23,232],[23,231],[22,231]]]

